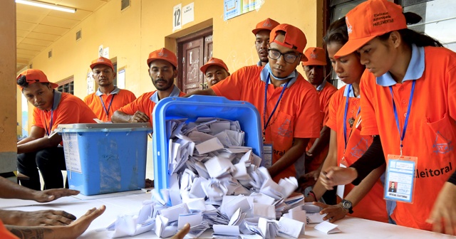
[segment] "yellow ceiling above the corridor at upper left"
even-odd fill
[[[46,47],[68,33],[110,0],[40,0],[76,9],[70,14],[37,6],[16,4],[16,71],[21,70]]]

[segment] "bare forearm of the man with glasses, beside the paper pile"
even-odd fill
[[[271,174],[271,177],[274,178],[274,176],[280,174],[281,171],[284,171],[286,168],[293,165],[294,162],[306,152],[307,144],[309,144],[309,139],[295,138],[293,146],[284,154],[284,156],[269,167],[268,171],[269,174]]]

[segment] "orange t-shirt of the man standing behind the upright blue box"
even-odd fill
[[[101,97],[101,99],[100,99]],[[103,103],[101,102],[103,100]],[[110,94],[105,95],[100,90],[94,92],[84,98],[84,102],[92,109],[98,119],[103,122],[110,122],[111,116],[120,107],[127,105],[128,103],[136,100],[135,94],[130,90],[123,90],[115,87]],[[103,107],[103,105],[105,107]],[[106,115],[108,111],[108,115]]]

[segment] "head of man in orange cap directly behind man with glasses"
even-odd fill
[[[268,63],[269,33],[278,25],[278,22],[271,18],[266,18],[266,20],[257,23],[257,27],[252,30],[255,35],[255,48],[257,48],[259,57],[258,66],[264,66]]]

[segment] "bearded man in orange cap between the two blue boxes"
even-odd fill
[[[155,104],[165,97],[185,95],[174,84],[177,77],[177,57],[167,48],[152,51],[147,58],[149,76],[157,90],[142,94],[138,99],[114,112],[113,122],[150,122]]]

